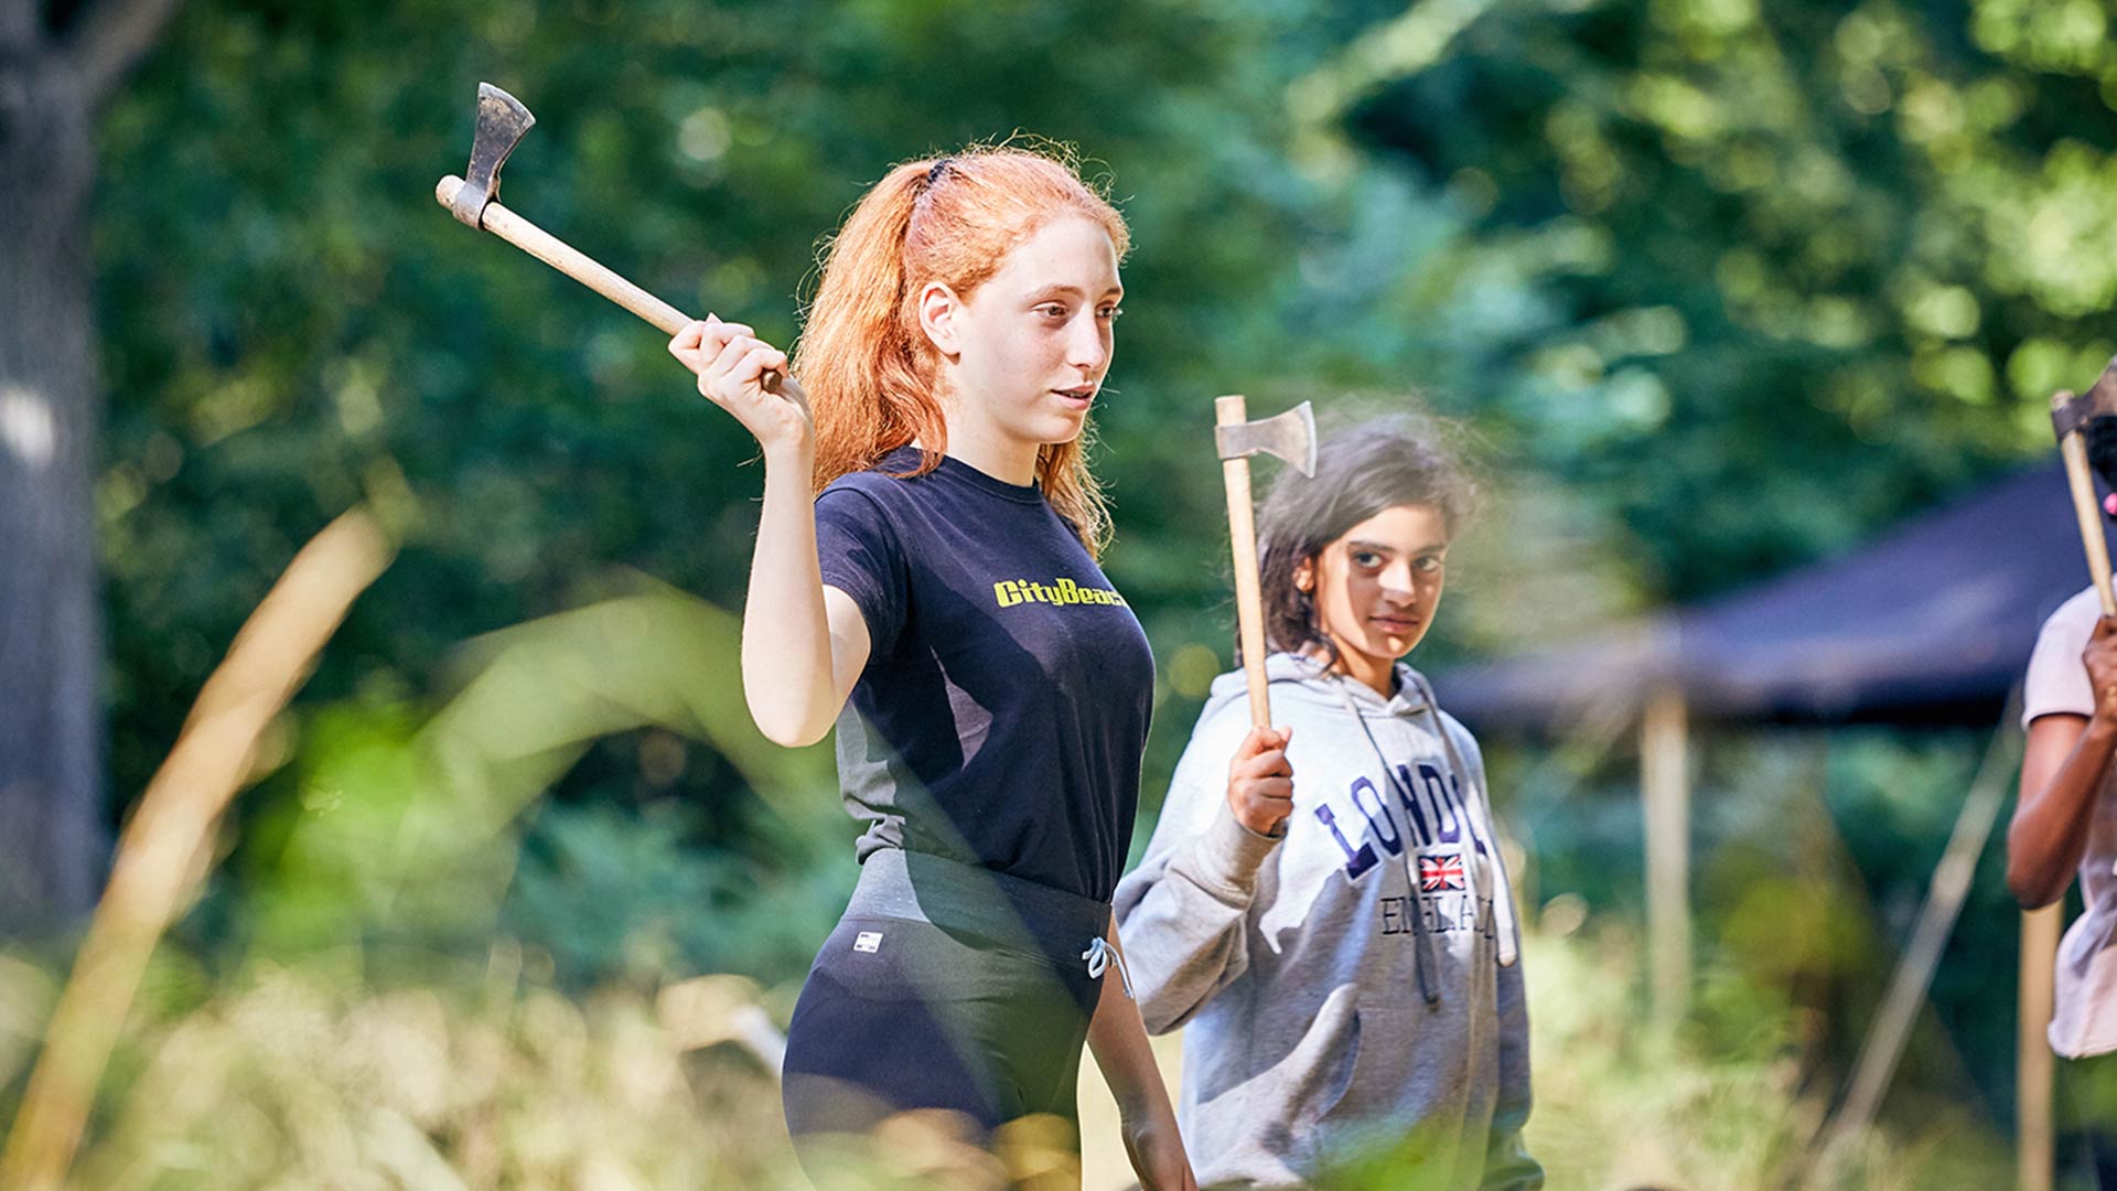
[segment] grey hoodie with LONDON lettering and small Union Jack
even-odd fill
[[[1186,1028],[1198,1185],[1304,1187],[1368,1155],[1389,1172],[1372,1187],[1543,1187],[1478,742],[1401,663],[1391,699],[1293,655],[1266,674],[1293,729],[1285,837],[1228,810],[1249,695],[1222,674],[1116,896],[1147,1030]]]

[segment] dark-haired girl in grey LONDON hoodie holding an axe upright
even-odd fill
[[[1399,659],[1471,485],[1410,417],[1332,437],[1260,513],[1272,716],[1213,682],[1118,886],[1147,1030],[1188,1026],[1200,1187],[1526,1189],[1528,1017],[1478,742]],[[1232,757],[1232,761],[1230,761]]]

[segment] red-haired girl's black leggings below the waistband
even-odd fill
[[[1099,990],[1078,958],[847,913],[794,1005],[788,1130],[866,1132],[908,1108],[961,1113],[980,1134],[1033,1113],[1073,1123]]]

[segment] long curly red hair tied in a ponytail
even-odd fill
[[[919,290],[942,282],[970,297],[1016,244],[1058,216],[1086,216],[1130,246],[1124,216],[1080,180],[1061,150],[972,146],[906,161],[874,184],[824,250],[824,280],[794,345],[792,371],[815,413],[815,485],[925,447],[923,475],[948,449],[940,352],[919,326]],[[1088,473],[1086,428],[1037,449],[1037,483],[1088,553],[1109,540],[1103,490]]]

